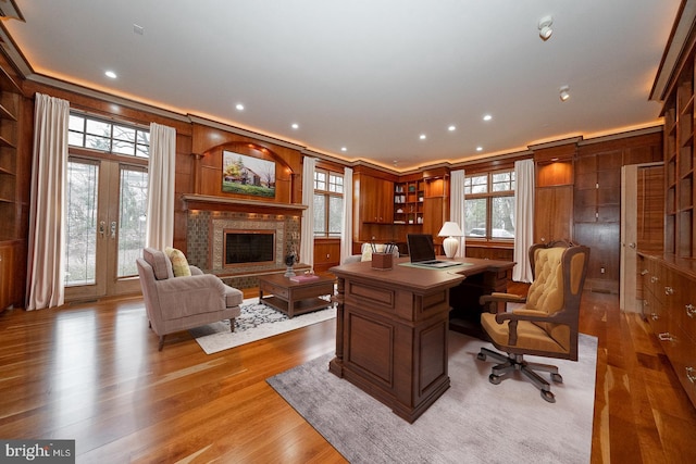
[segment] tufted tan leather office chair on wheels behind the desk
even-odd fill
[[[526,298],[509,293],[481,297],[490,313],[481,315],[481,324],[493,344],[507,355],[482,348],[478,359],[490,356],[501,364],[493,367],[488,380],[499,384],[514,371],[534,384],[542,398],[554,403],[549,383],[535,371],[548,372],[551,380],[562,383],[558,367],[527,363],[523,355],[538,355],[577,361],[580,299],[587,273],[589,248],[569,242],[539,243],[530,248],[534,281]],[[512,312],[497,312],[499,302],[524,303]]]

